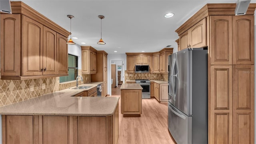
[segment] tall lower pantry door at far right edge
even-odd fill
[[[233,143],[254,143],[254,65],[233,66]]]

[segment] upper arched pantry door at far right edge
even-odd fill
[[[254,16],[232,16],[233,64],[254,64]]]

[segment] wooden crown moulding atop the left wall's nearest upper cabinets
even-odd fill
[[[48,28],[58,32],[59,34],[68,38],[70,32],[53,22],[52,20],[46,18],[30,6],[26,5],[23,2],[11,2],[12,14],[23,14],[29,18],[36,20],[37,22],[47,26]]]

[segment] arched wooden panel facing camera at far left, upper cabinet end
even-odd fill
[[[20,14],[1,14],[1,76],[20,76]]]

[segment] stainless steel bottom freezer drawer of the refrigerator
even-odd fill
[[[192,116],[168,104],[168,129],[177,144],[192,144]]]

